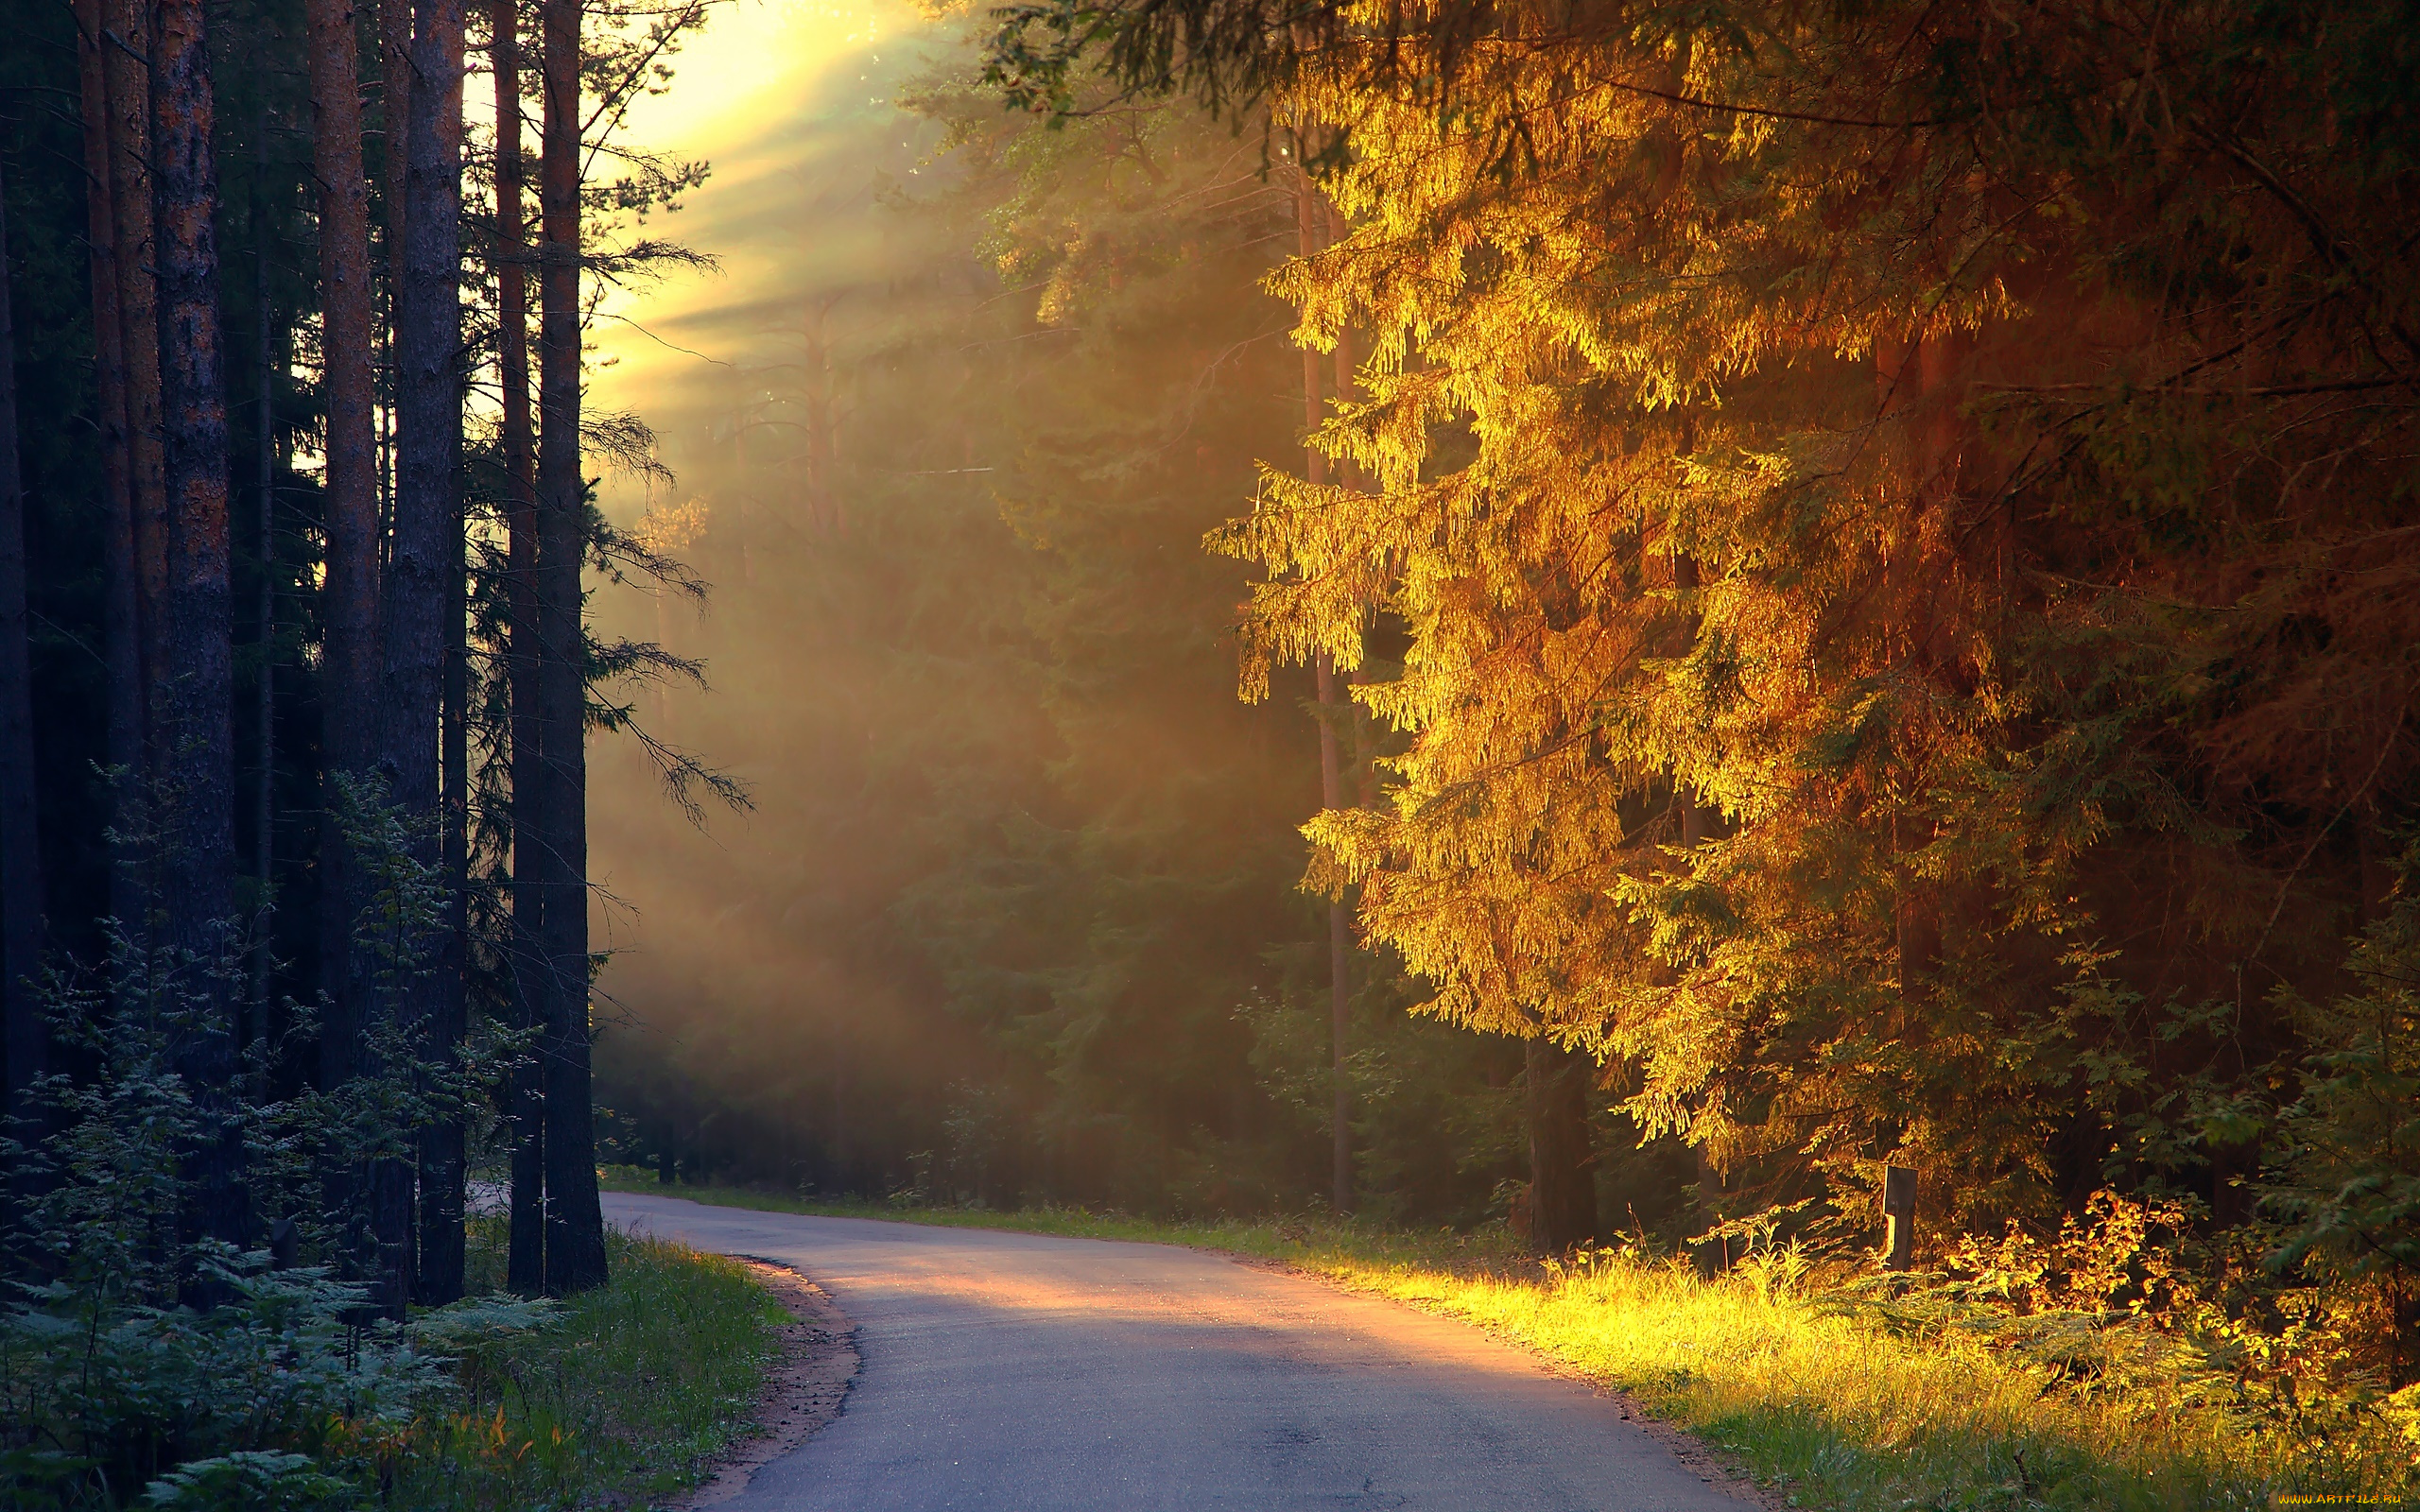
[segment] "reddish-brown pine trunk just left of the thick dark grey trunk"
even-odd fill
[[[319,360],[327,404],[327,578],[322,748],[327,774],[368,777],[378,706],[378,428],[370,302],[370,186],[361,165],[361,80],[351,0],[310,0],[312,177],[319,181]],[[334,793],[319,827],[319,1086],[353,1077],[353,919],[361,912]]]

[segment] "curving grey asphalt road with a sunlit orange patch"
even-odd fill
[[[1619,1403],[1476,1328],[1162,1243],[605,1195],[803,1270],[857,1323],[840,1420],[716,1512],[1745,1512]]]

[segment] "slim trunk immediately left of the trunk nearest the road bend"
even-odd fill
[[[537,716],[537,440],[530,431],[530,278],[528,220],[520,191],[520,5],[491,0],[491,68],[496,80],[496,392],[503,404],[506,486],[506,675],[513,704],[513,1026],[542,1031],[544,973],[537,951],[547,893],[537,885],[537,803],[544,752]],[[528,808],[523,808],[528,798]],[[523,1297],[547,1289],[547,1103],[544,1062],[523,1057],[506,1084],[513,1130],[513,1212],[506,1285]]]

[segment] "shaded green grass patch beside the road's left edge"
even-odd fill
[[[472,1224],[472,1280],[501,1285],[501,1219]],[[612,1280],[540,1331],[465,1355],[460,1398],[373,1459],[387,1505],[443,1512],[651,1507],[753,1432],[784,1314],[738,1260],[607,1231]]]

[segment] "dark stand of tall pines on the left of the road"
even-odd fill
[[[600,252],[588,232],[610,223],[581,225],[583,111],[600,90],[661,82],[702,12],[651,10],[644,46],[583,48],[576,0],[537,10],[542,80],[520,65],[523,7],[484,15],[494,174],[465,131],[457,0],[409,15],[387,0],[378,27],[348,0],[90,0],[58,22],[0,10],[10,36],[34,34],[22,22],[73,44],[12,46],[12,68],[58,75],[15,82],[77,104],[0,123],[0,227],[29,213],[39,247],[75,249],[0,261],[10,1178],[22,1193],[90,1181],[65,1142],[116,1096],[97,1079],[121,1064],[90,1043],[138,1023],[165,1035],[189,1113],[160,1125],[182,1130],[162,1178],[201,1246],[177,1251],[194,1302],[220,1299],[194,1258],[206,1241],[259,1248],[271,1229],[370,1282],[387,1311],[460,1297],[467,1137],[489,1096],[515,1130],[542,1118],[554,1152],[513,1159],[515,1212],[544,1212],[544,1234],[515,1224],[513,1285],[605,1280],[583,743],[600,677],[680,663],[600,656],[583,627],[583,561],[612,549],[581,467],[583,283],[600,256],[627,271],[685,254]],[[288,27],[307,87],[276,68]],[[373,119],[363,80],[382,80]],[[515,131],[532,82],[547,121],[535,527]],[[281,121],[305,128],[307,162]],[[48,179],[29,184],[27,165]],[[615,203],[661,206],[697,177]],[[286,208],[305,179],[307,218]],[[482,181],[499,186],[494,218]],[[34,293],[17,310],[48,363],[39,385],[15,382],[12,288]],[[235,329],[259,373],[230,370],[244,363],[227,360],[227,307],[249,317]],[[293,373],[281,351],[300,353]],[[85,440],[36,445],[19,489],[19,428]],[[319,467],[295,472],[298,450]],[[656,556],[624,566],[678,573]],[[288,639],[310,653],[273,675]],[[237,835],[254,837],[259,876],[240,876]],[[491,907],[508,895],[544,895],[547,927],[515,929]],[[542,1004],[542,1033],[525,1002]],[[85,1048],[53,1057],[60,1035]],[[261,1144],[266,1125],[319,1144]],[[29,1214],[12,1207],[12,1224]],[[63,1263],[58,1234],[7,1243],[34,1270]]]

